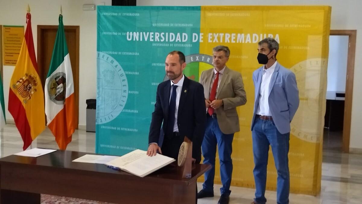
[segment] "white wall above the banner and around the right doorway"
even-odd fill
[[[332,30],[357,30],[356,58],[354,67],[352,122],[350,135],[350,148],[362,148],[362,1],[361,0],[137,0],[138,6],[143,5],[329,5],[332,7],[331,29]],[[271,18],[273,16],[270,16]]]

